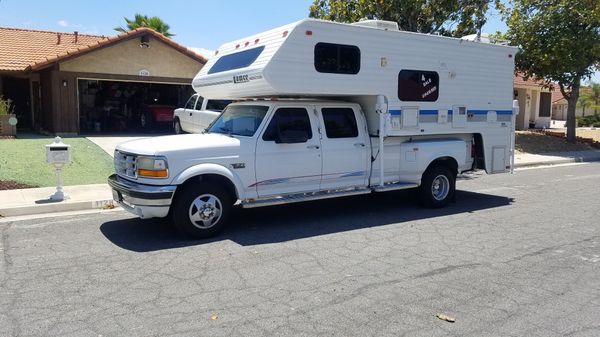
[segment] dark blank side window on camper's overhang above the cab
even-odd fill
[[[358,74],[360,49],[356,46],[317,43],[315,46],[315,69],[320,73]]]

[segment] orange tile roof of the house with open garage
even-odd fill
[[[106,37],[0,27],[0,71],[38,70],[144,34],[150,34],[198,62],[206,63],[202,55],[149,28]]]

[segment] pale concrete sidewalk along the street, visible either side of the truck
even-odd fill
[[[547,153],[544,155],[519,153],[515,156],[515,167],[557,165],[577,162],[600,161],[600,150]],[[41,213],[80,211],[112,208],[112,191],[108,184],[65,186],[70,198],[60,202],[48,198],[54,187],[28,188],[0,191],[0,216],[12,217]]]

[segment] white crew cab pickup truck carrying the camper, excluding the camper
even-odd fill
[[[382,182],[377,140],[356,103],[238,102],[203,134],[120,144],[108,182],[128,211],[141,218],[171,214],[182,232],[207,237],[223,228],[234,204],[419,187],[424,204],[441,207],[453,198],[457,173],[475,165],[472,134],[390,137]]]

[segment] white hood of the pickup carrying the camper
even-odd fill
[[[189,157],[202,152],[218,156],[237,154],[240,141],[222,134],[188,134],[135,139],[117,145],[117,150],[140,155],[169,157],[184,152]]]

